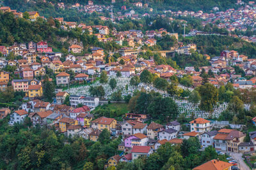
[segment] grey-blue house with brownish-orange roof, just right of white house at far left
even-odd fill
[[[32,113],[31,122],[35,125],[47,125],[47,117],[52,114],[51,110]]]

